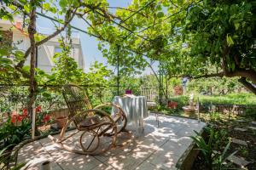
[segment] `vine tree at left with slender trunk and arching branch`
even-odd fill
[[[61,31],[65,31],[67,26],[69,26],[70,22],[73,20],[75,15],[79,17],[84,17],[86,15],[93,22],[105,22],[105,20],[109,19],[108,12],[106,12],[106,5],[108,3],[102,0],[50,0],[45,2],[44,0],[3,0],[1,1],[0,8],[0,19],[9,20],[11,22],[14,21],[15,15],[24,16],[26,20],[24,20],[24,31],[27,33],[30,40],[30,47],[26,49],[25,53],[15,53],[15,48],[0,50],[1,52],[1,66],[8,67],[9,63],[12,62],[11,68],[15,71],[20,72],[22,77],[29,80],[30,84],[30,94],[29,94],[29,102],[27,107],[30,112],[32,112],[32,105],[36,99],[37,93],[37,84],[38,82],[35,80],[35,55],[36,48],[44,42],[47,42],[49,39],[59,35]],[[101,11],[101,14],[96,14],[96,8]],[[60,25],[55,26],[55,31],[48,36],[38,34],[36,30],[36,18],[37,11],[41,11],[42,14],[53,14],[53,15],[61,15],[64,19],[55,17]],[[9,54],[14,54],[14,60],[9,59]],[[30,59],[30,67],[27,70],[27,67],[24,65],[26,59]],[[67,59],[67,56],[64,54],[63,57]],[[63,60],[65,60],[63,59]],[[62,59],[61,59],[62,60]],[[70,60],[70,62],[72,62]],[[4,67],[3,67],[4,68]],[[3,69],[1,69],[3,71]],[[9,70],[5,70],[5,73]],[[57,73],[56,73],[57,74]],[[59,74],[60,76],[60,74]]]

